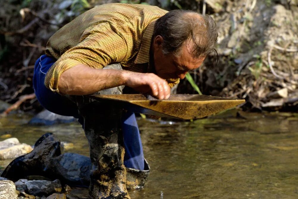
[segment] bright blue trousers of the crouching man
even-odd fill
[[[35,62],[33,87],[36,98],[45,109],[59,115],[78,118],[78,121],[83,126],[84,121],[78,113],[77,105],[63,95],[52,92],[44,85],[46,73],[55,61],[55,58],[42,55]],[[144,170],[142,142],[136,123],[136,116],[133,112],[127,111],[123,113],[122,131],[125,146],[124,165],[128,168]]]

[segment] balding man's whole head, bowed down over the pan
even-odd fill
[[[214,50],[214,20],[191,10],[173,10],[156,21],[152,41],[154,66],[164,79],[183,79]]]

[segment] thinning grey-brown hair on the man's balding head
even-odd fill
[[[215,21],[209,15],[201,15],[192,10],[172,10],[157,19],[153,38],[163,37],[162,52],[180,55],[186,41],[193,43],[192,56],[207,56],[215,51],[218,38]]]

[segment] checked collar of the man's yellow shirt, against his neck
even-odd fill
[[[149,62],[150,46],[156,20],[157,19],[151,21],[150,24],[148,24],[148,26],[144,30],[141,40],[141,46],[138,54],[136,55],[136,59],[134,60],[135,64],[144,64]]]

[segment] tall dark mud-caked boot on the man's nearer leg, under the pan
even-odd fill
[[[77,96],[77,101],[94,167],[89,198],[130,198],[123,165],[122,110],[114,104],[90,102],[84,96]]]

